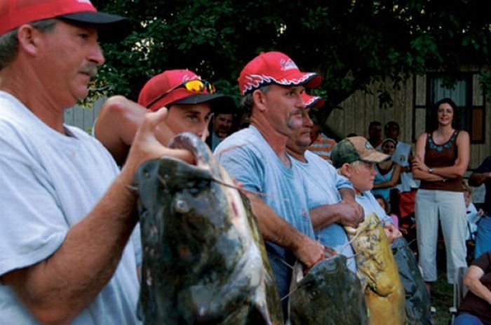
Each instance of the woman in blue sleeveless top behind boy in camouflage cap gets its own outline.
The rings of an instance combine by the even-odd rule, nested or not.
[[[392,159],[397,141],[392,138],[386,138],[380,146],[382,152],[389,155],[390,158],[375,165],[377,175],[375,175],[375,181],[373,182],[372,193],[373,195],[382,195],[384,200],[391,203],[391,190],[399,183],[401,176],[401,165]]]

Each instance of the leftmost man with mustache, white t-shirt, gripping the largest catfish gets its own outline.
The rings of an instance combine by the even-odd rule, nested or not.
[[[63,123],[105,61],[97,39],[129,29],[89,0],[1,1],[0,324],[139,323],[128,186],[146,160],[194,159],[154,137],[166,110],[145,116],[121,172]]]

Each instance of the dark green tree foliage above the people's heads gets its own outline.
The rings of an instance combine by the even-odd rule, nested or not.
[[[133,99],[149,76],[184,67],[238,98],[243,65],[266,50],[283,51],[302,69],[322,74],[318,93],[330,107],[375,81],[398,88],[413,73],[440,71],[452,84],[463,65],[490,64],[488,0],[93,3],[133,22],[127,39],[104,46],[107,64],[97,81],[98,88]],[[381,87],[381,103],[390,104],[391,89]]]

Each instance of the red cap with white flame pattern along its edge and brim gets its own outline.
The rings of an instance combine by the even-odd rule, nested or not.
[[[238,88],[242,95],[263,85],[305,85],[316,88],[322,77],[315,72],[302,72],[288,55],[281,52],[262,52],[245,65],[238,76]]]

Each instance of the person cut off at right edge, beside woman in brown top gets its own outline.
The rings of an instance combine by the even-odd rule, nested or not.
[[[483,204],[483,215],[478,222],[476,249],[474,256],[480,256],[491,250],[491,155],[476,168],[469,177],[470,186],[485,185],[486,194]]]

